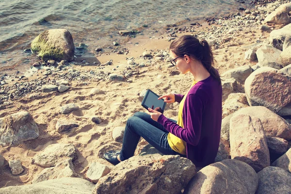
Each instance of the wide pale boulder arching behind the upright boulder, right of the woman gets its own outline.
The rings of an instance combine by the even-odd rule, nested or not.
[[[260,119],[263,125],[266,136],[280,137],[286,140],[291,139],[291,126],[289,123],[263,106],[253,106],[242,108],[236,113],[230,114],[222,119],[221,137],[227,140],[229,136],[229,123],[230,119],[236,114],[246,114],[251,117]]]

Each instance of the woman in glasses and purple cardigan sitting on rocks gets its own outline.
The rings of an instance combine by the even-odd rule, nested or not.
[[[218,151],[222,120],[222,85],[212,66],[213,55],[206,40],[183,35],[170,45],[170,54],[182,74],[192,73],[193,84],[185,95],[167,94],[166,103],[178,102],[178,121],[148,108],[127,121],[121,151],[104,158],[114,165],[133,156],[140,137],[166,155],[180,155],[196,166],[213,163]]]

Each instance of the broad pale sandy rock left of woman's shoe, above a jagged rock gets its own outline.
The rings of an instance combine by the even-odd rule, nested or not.
[[[75,146],[71,144],[51,144],[34,156],[33,163],[43,167],[51,167],[67,160],[73,161],[76,158],[77,150]]]

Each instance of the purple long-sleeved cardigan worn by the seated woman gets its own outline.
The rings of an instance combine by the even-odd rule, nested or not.
[[[184,96],[175,94],[175,101]],[[163,114],[158,122],[186,142],[187,158],[196,166],[213,163],[217,155],[222,120],[222,86],[212,76],[198,81],[188,92],[183,107],[183,125]]]

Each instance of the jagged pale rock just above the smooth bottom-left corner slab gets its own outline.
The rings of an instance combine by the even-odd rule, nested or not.
[[[32,184],[37,182],[42,182],[55,178],[64,178],[64,177],[75,177],[81,178],[75,170],[71,160],[66,160],[56,164],[56,166],[51,168],[45,168],[36,178],[32,180]]]

